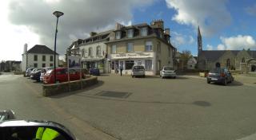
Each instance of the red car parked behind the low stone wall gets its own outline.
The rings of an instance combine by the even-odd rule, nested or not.
[[[80,72],[70,69],[70,80],[80,80]],[[67,68],[56,68],[56,83],[68,81]],[[43,84],[54,84],[54,69],[46,72]]]

